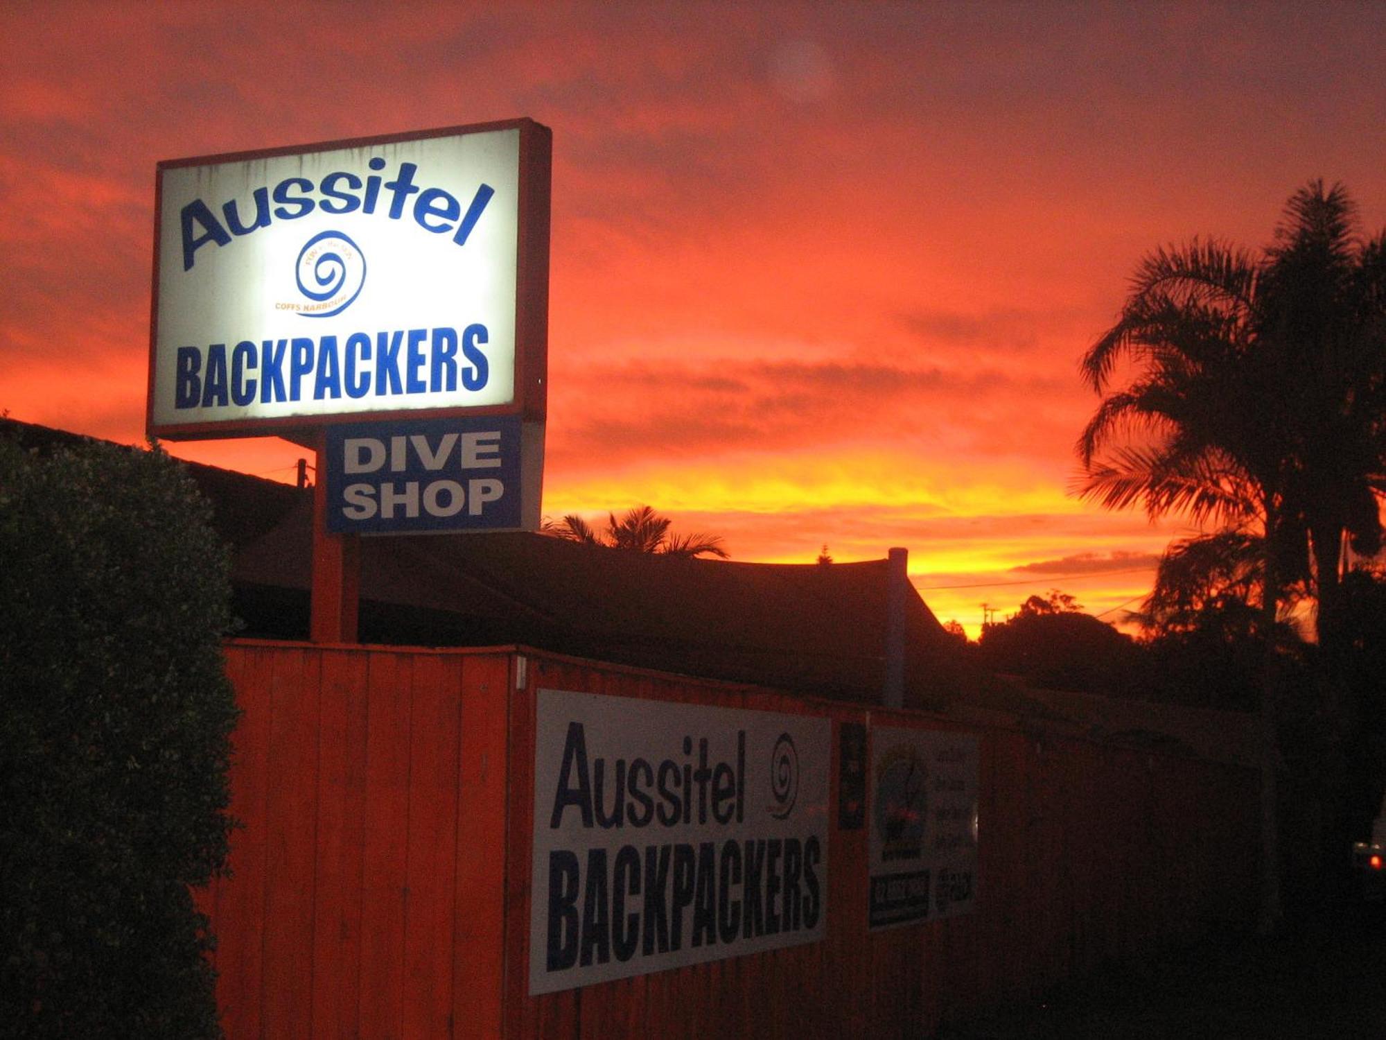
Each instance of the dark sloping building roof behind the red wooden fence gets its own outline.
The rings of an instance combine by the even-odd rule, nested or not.
[[[22,442],[78,438],[7,420]],[[308,635],[312,494],[187,463],[231,546],[243,635]],[[539,534],[363,538],[362,642],[520,643],[703,678],[879,703],[887,560],[773,564],[682,559]],[[913,587],[905,704],[956,692],[962,655]]]

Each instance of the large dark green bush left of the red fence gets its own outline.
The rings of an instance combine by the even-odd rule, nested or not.
[[[220,1036],[188,892],[231,826],[208,520],[161,451],[0,440],[0,1034]]]

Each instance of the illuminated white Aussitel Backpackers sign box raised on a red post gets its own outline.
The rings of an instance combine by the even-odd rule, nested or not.
[[[148,426],[543,419],[549,132],[161,162]]]

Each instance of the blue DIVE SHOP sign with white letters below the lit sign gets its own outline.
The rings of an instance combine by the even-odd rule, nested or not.
[[[525,527],[524,423],[475,416],[327,430],[327,530],[337,534]]]

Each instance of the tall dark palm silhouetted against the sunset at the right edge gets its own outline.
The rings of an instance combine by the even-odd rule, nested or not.
[[[1267,929],[1279,917],[1278,607],[1295,588],[1313,596],[1332,661],[1343,545],[1371,553],[1382,544],[1386,233],[1364,243],[1356,226],[1346,190],[1315,180],[1290,197],[1260,257],[1199,240],[1156,250],[1081,361],[1105,397],[1078,440],[1080,494],[1213,528],[1171,546],[1148,609],[1196,567],[1210,585],[1218,575],[1258,585]],[[1249,552],[1258,557],[1250,570]]]

